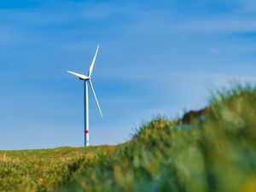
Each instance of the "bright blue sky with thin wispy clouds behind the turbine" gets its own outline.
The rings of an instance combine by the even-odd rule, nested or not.
[[[0,149],[123,143],[144,120],[203,108],[230,81],[256,82],[254,0],[0,3]]]

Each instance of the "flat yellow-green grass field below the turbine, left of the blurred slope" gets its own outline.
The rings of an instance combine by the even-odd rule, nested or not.
[[[72,177],[84,159],[111,148],[0,151],[0,191],[52,191]]]

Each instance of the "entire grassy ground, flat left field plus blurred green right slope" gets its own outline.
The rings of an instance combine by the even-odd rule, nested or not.
[[[0,191],[256,191],[256,89],[223,90],[204,121],[159,117],[118,146],[0,151]]]

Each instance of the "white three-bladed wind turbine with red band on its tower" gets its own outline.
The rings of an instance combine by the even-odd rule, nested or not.
[[[90,84],[90,88],[91,88],[92,93],[93,93],[93,95],[95,97],[95,100],[96,100],[97,106],[99,108],[99,111],[100,111],[100,113],[102,115],[102,109],[101,109],[100,104],[99,104],[99,102],[97,100],[95,90],[94,90],[92,82],[90,80],[90,76],[91,76],[91,73],[92,73],[95,61],[96,61],[96,56],[97,56],[97,53],[98,53],[98,49],[99,49],[99,45],[97,46],[96,53],[95,53],[94,58],[93,58],[93,60],[92,60],[92,62],[90,64],[89,73],[88,73],[87,76],[84,75],[84,74],[74,73],[74,72],[71,72],[71,71],[67,71],[68,73],[72,73],[73,75],[79,77],[80,80],[84,81],[84,146],[89,146],[89,97],[88,97],[88,84]],[[102,118],[103,118],[103,115],[102,115]]]

